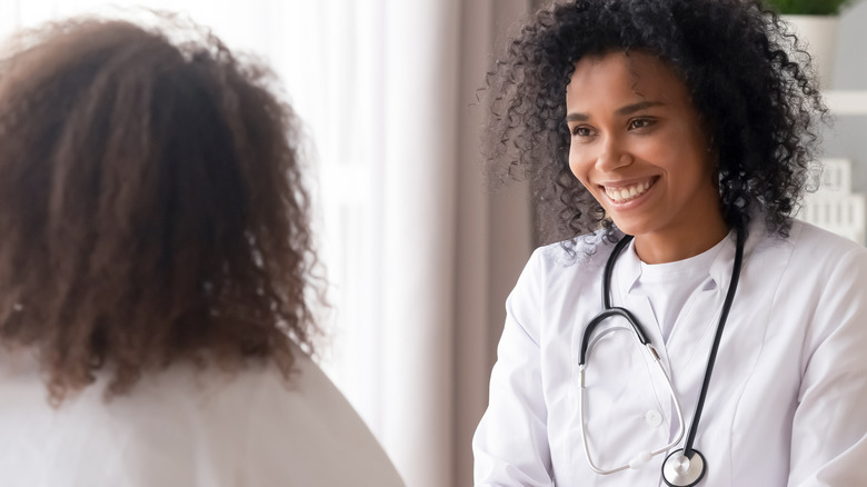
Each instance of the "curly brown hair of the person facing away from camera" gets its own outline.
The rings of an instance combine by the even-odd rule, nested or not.
[[[172,41],[171,39],[181,39]],[[179,360],[312,351],[322,284],[299,123],[207,30],[71,19],[0,61],[0,342],[60,404]]]

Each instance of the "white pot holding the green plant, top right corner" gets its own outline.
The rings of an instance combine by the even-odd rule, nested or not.
[[[838,16],[781,16],[807,46],[813,68],[818,74],[819,88],[830,89],[834,82],[834,62],[837,57]]]

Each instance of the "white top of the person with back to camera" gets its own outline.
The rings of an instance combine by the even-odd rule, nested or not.
[[[0,360],[3,487],[402,486],[365,424],[296,349],[232,376],[172,366],[104,402],[106,377],[51,408],[36,365]]]

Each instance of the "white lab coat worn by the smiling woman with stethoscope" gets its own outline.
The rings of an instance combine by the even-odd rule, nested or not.
[[[700,485],[865,486],[867,249],[798,221],[789,238],[768,236],[763,217],[750,225],[698,427],[695,447],[707,460]],[[665,485],[665,455],[608,476],[590,470],[585,458],[578,351],[584,327],[601,308],[612,245],[598,235],[581,245],[571,265],[558,245],[538,249],[507,301],[490,406],[474,438],[477,486]],[[694,298],[667,344],[658,327],[645,325],[687,427],[735,247],[727,238],[710,266],[715,286]],[[652,324],[647,299],[629,292],[639,269],[634,252],[618,259],[612,304]],[[670,397],[632,344],[631,334],[607,334],[588,358],[587,429],[602,468],[662,447],[676,433]]]

